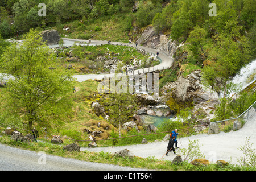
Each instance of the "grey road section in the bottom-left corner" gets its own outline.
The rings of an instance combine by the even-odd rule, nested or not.
[[[141,169],[83,162],[0,144],[0,171],[138,171]],[[44,164],[45,161],[45,164]]]

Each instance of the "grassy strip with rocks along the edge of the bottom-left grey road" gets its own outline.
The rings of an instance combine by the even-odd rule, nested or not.
[[[255,170],[253,167],[241,167],[229,164],[225,167],[219,167],[216,164],[210,164],[209,166],[193,166],[187,161],[176,165],[172,164],[171,160],[159,160],[154,157],[140,158],[135,156],[134,158],[122,158],[109,152],[68,152],[62,149],[63,145],[51,144],[48,142],[14,142],[9,136],[3,135],[0,137],[0,143],[7,144],[12,147],[18,147],[31,151],[44,151],[46,154],[61,156],[65,158],[72,158],[87,162],[97,162],[114,164],[119,166],[129,166],[132,168],[142,168],[148,170],[160,170],[160,171],[249,171]]]

